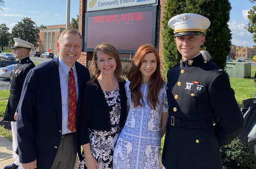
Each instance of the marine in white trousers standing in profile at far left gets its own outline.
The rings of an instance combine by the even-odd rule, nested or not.
[[[17,128],[15,113],[18,113],[19,100],[23,83],[28,72],[35,67],[35,64],[29,58],[29,51],[33,47],[33,44],[23,41],[20,38],[14,38],[15,45],[12,47],[15,51],[15,58],[19,59],[10,77],[10,95],[5,110],[4,121],[11,121],[11,132],[13,134],[13,157],[16,160],[13,164],[7,165],[4,169],[18,168],[19,157],[15,153],[17,148]]]

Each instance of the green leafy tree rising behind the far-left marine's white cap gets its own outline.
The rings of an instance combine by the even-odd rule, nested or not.
[[[22,21],[18,22],[11,31],[9,46],[14,45],[13,38],[21,38],[22,40],[28,41],[38,47],[39,42],[39,28],[31,18],[23,18]]]

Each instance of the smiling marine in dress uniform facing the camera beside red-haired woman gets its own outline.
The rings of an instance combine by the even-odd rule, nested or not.
[[[167,73],[169,118],[163,166],[221,169],[220,147],[238,136],[243,118],[226,73],[200,54],[202,34],[210,21],[197,14],[181,14],[168,25],[175,30],[182,60]]]

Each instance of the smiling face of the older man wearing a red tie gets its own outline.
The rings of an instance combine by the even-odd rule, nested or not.
[[[66,33],[63,35],[61,42],[57,42],[59,57],[70,68],[77,61],[82,52],[82,42],[78,34]]]

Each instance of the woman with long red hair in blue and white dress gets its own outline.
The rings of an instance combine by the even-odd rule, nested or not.
[[[154,46],[142,45],[137,50],[128,80],[125,90],[129,113],[114,151],[113,168],[159,168],[168,102]]]

